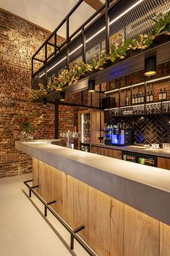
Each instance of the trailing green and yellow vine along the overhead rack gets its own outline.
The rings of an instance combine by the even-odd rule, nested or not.
[[[69,70],[64,69],[58,78],[54,77],[52,82],[48,83],[45,88],[41,83],[38,84],[38,90],[32,90],[31,99],[35,100],[41,96],[46,96],[51,91],[62,91],[64,86],[76,83],[83,75],[86,75],[93,70],[103,70],[108,62],[115,62],[116,59],[124,59],[127,56],[127,51],[136,49],[146,49],[153,40],[162,34],[170,35],[170,11],[165,14],[158,14],[155,27],[152,32],[147,35],[139,35],[135,39],[126,39],[121,33],[116,33],[110,38],[110,50],[109,54],[106,54],[104,50],[101,51],[101,56],[93,56],[93,61],[88,63],[82,62],[82,60],[76,60],[69,66]]]

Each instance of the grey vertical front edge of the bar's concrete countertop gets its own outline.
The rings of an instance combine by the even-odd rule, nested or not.
[[[54,157],[51,152],[20,141],[16,141],[16,148],[170,226],[169,191],[132,181],[57,154]]]

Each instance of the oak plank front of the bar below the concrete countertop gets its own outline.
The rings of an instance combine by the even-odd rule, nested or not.
[[[33,185],[99,256],[170,256],[170,226],[35,158]]]

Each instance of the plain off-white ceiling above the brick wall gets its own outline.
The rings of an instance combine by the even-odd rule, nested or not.
[[[0,7],[18,15],[25,20],[46,28],[51,32],[64,19],[78,0],[0,0]],[[105,1],[105,0],[102,0]],[[82,2],[75,14],[70,18],[69,34],[88,19],[95,10]],[[66,26],[59,30],[59,35],[66,38]]]

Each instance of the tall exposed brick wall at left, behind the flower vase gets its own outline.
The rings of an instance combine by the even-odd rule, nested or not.
[[[21,128],[16,117],[43,115],[35,138],[54,138],[54,106],[30,102],[31,57],[49,36],[46,30],[0,9],[0,178],[31,171],[31,158],[14,148]],[[58,41],[62,38],[58,38]]]

